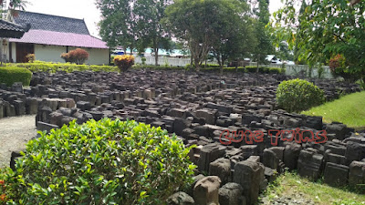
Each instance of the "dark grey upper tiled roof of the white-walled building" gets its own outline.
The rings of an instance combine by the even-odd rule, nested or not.
[[[18,25],[30,24],[35,30],[89,35],[88,27],[83,19],[17,11],[14,20]]]

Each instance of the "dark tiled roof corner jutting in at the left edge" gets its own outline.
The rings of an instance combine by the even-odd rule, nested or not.
[[[0,19],[0,37],[20,38],[29,30],[29,26],[20,26]]]

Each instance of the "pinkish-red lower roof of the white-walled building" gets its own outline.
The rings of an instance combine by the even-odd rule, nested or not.
[[[46,30],[29,30],[22,38],[10,38],[9,41],[54,46],[109,48],[107,43],[94,36]]]

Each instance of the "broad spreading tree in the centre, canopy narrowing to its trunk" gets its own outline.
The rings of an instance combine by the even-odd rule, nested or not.
[[[172,34],[187,42],[199,71],[212,46],[219,41],[227,16],[235,13],[237,0],[175,0],[166,8],[163,22]]]

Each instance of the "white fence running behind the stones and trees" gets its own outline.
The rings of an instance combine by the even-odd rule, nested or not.
[[[145,56],[146,65],[155,65],[154,56]],[[136,63],[141,64],[141,56],[136,56]],[[171,56],[160,56],[158,60],[160,66],[172,66],[172,67],[185,67],[190,65],[190,57],[171,57]],[[209,64],[217,64],[216,62],[209,62]],[[255,62],[250,62],[249,66],[257,66]],[[260,65],[260,67],[285,67],[287,76],[297,76],[297,77],[321,77],[321,78],[334,78],[329,70],[329,67],[313,67],[312,69],[307,65]]]

